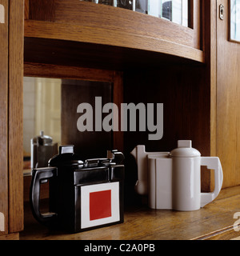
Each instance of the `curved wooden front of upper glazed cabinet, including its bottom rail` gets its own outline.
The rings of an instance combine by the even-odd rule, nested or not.
[[[91,2],[55,0],[45,5],[38,5],[39,1],[29,2],[25,37],[150,50],[204,62],[198,0],[194,0],[193,28]]]

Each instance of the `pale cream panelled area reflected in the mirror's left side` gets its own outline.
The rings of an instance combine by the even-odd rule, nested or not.
[[[33,145],[31,139],[41,137],[50,144],[61,143],[61,79],[30,78],[23,79],[23,150],[24,169],[36,167],[33,158],[30,162]],[[55,147],[56,148],[56,147]],[[49,153],[49,148],[47,149]],[[53,152],[53,154],[55,151]],[[34,166],[33,166],[34,165]],[[38,166],[40,167],[40,166]]]

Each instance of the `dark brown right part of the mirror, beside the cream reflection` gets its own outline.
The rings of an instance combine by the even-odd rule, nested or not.
[[[62,80],[62,144],[74,145],[74,152],[82,159],[104,158],[106,150],[111,148],[111,132],[96,131],[95,114],[99,118],[99,111],[95,106],[95,97],[102,97],[102,106],[111,102],[112,86],[110,82],[90,82],[81,80]],[[77,113],[80,103],[89,103],[92,106],[93,131],[79,131],[77,127],[78,118],[82,114]],[[98,110],[98,113],[97,113]],[[84,112],[86,114],[86,112]],[[101,122],[106,114],[102,113]]]

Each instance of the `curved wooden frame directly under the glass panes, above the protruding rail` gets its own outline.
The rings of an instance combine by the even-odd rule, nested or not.
[[[162,38],[199,49],[200,38],[194,36],[194,30],[200,34],[200,12],[198,11],[200,10],[200,1],[193,0],[193,2],[194,6],[191,6],[192,10],[190,10],[194,17],[193,28],[179,26],[165,19],[131,10],[74,0],[30,0],[29,19],[52,21],[58,24],[59,22],[78,24],[91,28],[92,32],[98,28],[106,30],[106,33],[119,30],[150,38]],[[178,36],[176,37],[176,35]],[[108,37],[106,35],[102,38],[107,40]]]

